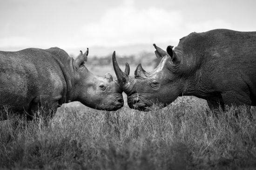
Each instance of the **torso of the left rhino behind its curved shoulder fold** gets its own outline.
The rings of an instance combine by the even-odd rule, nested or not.
[[[59,63],[47,50],[0,51],[0,105],[20,111],[40,98],[53,102],[65,83]]]

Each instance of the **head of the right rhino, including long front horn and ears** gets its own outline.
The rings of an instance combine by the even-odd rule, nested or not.
[[[119,85],[128,96],[128,106],[142,111],[149,111],[153,105],[166,107],[182,94],[181,57],[178,51],[167,47],[167,52],[155,44],[155,55],[161,57],[159,65],[151,72],[146,72],[141,64],[135,70],[135,78],[123,73],[113,54],[113,66]],[[177,53],[177,54],[176,54]]]

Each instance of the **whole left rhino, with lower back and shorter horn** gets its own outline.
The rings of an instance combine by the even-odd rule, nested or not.
[[[122,90],[108,73],[94,76],[84,65],[88,50],[74,60],[57,47],[0,51],[0,108],[32,113],[46,107],[50,116],[69,101],[100,110],[123,106]]]

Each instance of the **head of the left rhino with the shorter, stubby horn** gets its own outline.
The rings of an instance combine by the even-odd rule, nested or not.
[[[104,77],[95,76],[84,65],[87,61],[88,50],[73,62],[74,80],[73,96],[85,106],[98,110],[113,111],[123,106],[122,89],[107,73]]]

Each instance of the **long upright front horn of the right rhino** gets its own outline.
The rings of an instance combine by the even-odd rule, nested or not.
[[[118,66],[118,63],[115,58],[115,51],[112,56],[112,61],[113,61],[115,74],[118,80],[118,84],[120,85],[120,87],[125,93],[129,93],[136,82],[135,78],[130,77],[128,74],[130,72],[129,64],[128,63],[126,64],[126,73],[124,73]]]

